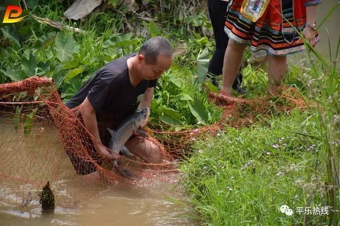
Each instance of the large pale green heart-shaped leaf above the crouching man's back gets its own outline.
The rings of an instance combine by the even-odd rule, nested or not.
[[[72,59],[73,53],[79,52],[79,44],[73,39],[72,35],[68,35],[66,40],[64,40],[61,33],[57,32],[54,45],[57,58],[60,62]]]

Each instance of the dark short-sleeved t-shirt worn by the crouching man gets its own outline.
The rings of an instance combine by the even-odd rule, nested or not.
[[[116,59],[94,73],[78,93],[65,105],[75,108],[87,97],[96,113],[116,113],[128,116],[138,107],[137,97],[154,87],[156,80],[142,80],[133,87],[129,78],[127,59],[136,53]]]

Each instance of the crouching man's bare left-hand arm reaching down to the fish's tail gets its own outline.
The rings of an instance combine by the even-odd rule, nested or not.
[[[118,156],[110,155],[106,150],[106,147],[102,145],[101,138],[99,136],[96,111],[93,109],[90,101],[85,98],[83,103],[80,105],[80,113],[82,114],[85,128],[92,134],[94,137],[93,144],[97,151],[97,153],[104,159],[111,160],[117,159]]]

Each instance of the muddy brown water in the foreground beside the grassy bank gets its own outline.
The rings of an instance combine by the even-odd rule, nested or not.
[[[197,225],[188,217],[193,210],[187,207],[178,174],[162,173],[142,178],[137,185],[105,187],[76,175],[63,150],[48,123],[36,123],[24,136],[22,125],[16,132],[13,118],[0,117],[0,226]],[[36,195],[46,180],[52,181],[57,200],[50,214],[42,214]],[[33,201],[20,208],[29,191]]]

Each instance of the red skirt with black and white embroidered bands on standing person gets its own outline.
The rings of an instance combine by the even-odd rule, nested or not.
[[[321,0],[313,2],[318,4]],[[306,0],[270,0],[256,22],[240,13],[242,3],[243,0],[229,3],[224,31],[230,39],[250,45],[253,52],[264,49],[270,55],[287,55],[305,50],[304,42],[295,29],[302,33],[305,28]],[[317,32],[315,38],[319,41]]]

